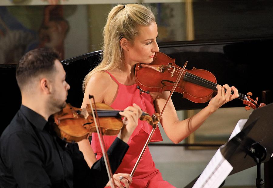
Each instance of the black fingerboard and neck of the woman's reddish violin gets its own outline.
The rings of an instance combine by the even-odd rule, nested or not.
[[[212,89],[213,91],[217,91],[217,87],[216,87],[217,83],[214,83],[214,82],[212,82],[210,80],[206,80],[206,79],[204,79],[202,77],[199,77],[197,75],[194,75],[192,73],[186,72],[183,79],[188,81],[188,82],[191,82],[191,83],[194,83],[194,84],[197,84],[197,85]],[[225,89],[225,91],[227,91],[227,90]],[[234,91],[231,91],[231,94],[234,94]],[[244,101],[248,97],[245,96],[244,94],[239,93],[238,98]]]

